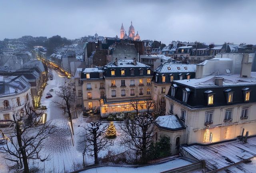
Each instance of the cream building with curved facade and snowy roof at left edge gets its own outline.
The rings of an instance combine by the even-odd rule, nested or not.
[[[11,125],[13,114],[25,112],[25,106],[32,105],[30,84],[20,76],[0,76],[0,128]]]

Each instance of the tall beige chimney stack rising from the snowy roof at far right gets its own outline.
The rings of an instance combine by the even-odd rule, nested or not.
[[[252,57],[249,57],[249,54],[244,54],[242,59],[240,77],[251,77],[251,71]]]

